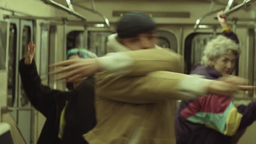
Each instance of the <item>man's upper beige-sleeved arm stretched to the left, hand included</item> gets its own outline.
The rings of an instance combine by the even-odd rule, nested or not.
[[[149,49],[130,52],[110,53],[105,57],[94,59],[72,59],[51,65],[67,66],[51,74],[67,72],[58,78],[75,82],[101,71],[121,76],[144,76],[157,70],[183,73],[183,58],[167,49]]]

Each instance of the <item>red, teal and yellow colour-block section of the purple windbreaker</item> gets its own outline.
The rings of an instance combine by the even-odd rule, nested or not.
[[[242,114],[230,97],[208,95],[191,101],[180,115],[189,122],[200,123],[224,135],[234,135],[239,127]]]

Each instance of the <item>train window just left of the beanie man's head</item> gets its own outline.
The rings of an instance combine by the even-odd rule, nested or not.
[[[107,53],[108,36],[113,32],[88,32],[88,50],[101,57]]]

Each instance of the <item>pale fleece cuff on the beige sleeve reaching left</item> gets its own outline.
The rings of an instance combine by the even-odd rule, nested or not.
[[[109,56],[97,58],[102,71],[108,71],[116,75],[130,73],[133,64],[132,58],[125,53],[112,53]]]

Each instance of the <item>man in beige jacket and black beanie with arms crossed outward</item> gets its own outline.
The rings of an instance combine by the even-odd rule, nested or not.
[[[102,71],[96,76],[97,125],[84,134],[90,144],[176,143],[176,100],[207,93],[232,95],[239,89],[231,83],[181,74],[182,57],[155,45],[155,28],[146,14],[126,14],[118,23],[118,34],[108,38],[107,50],[114,53],[53,64],[69,65],[53,72],[68,71],[59,78],[67,81]]]

